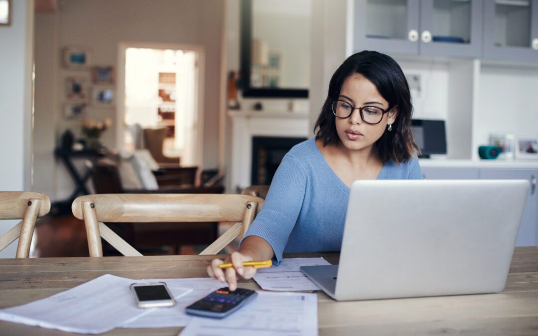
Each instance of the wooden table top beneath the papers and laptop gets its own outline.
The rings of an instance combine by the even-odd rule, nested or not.
[[[324,256],[336,253],[293,254]],[[103,274],[137,278],[206,276],[213,256],[0,259],[0,308],[28,303]],[[259,289],[252,280],[240,287]],[[518,247],[500,294],[336,302],[318,294],[320,335],[538,335],[538,246]],[[181,328],[123,329],[111,335],[177,335]],[[0,321],[2,335],[64,334]]]

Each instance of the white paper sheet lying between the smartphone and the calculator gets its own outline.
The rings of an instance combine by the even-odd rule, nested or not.
[[[205,297],[210,292],[219,288],[228,286],[227,283],[220,282],[214,278],[184,278],[184,279],[160,279],[152,280],[164,281],[168,285],[172,295],[175,297],[175,288],[192,288],[188,294],[176,298],[178,302],[172,308],[166,310],[152,311],[144,314],[137,319],[129,321],[122,325],[124,328],[164,328],[164,327],[183,327],[189,323],[190,317],[185,313],[185,308]]]

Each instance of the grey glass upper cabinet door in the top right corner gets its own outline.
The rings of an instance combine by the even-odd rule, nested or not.
[[[538,0],[484,2],[483,57],[538,61]]]

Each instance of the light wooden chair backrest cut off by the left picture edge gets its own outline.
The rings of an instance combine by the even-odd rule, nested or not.
[[[22,219],[0,236],[0,251],[19,238],[15,258],[28,258],[36,220],[51,210],[51,199],[40,192],[0,191],[0,219]]]

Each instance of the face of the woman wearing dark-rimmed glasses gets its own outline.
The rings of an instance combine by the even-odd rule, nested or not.
[[[338,99],[353,106],[369,105],[383,110],[388,109],[388,102],[379,94],[376,85],[361,74],[353,74],[346,78]],[[354,109],[348,118],[335,117],[336,132],[345,148],[353,151],[368,150],[381,138],[383,132],[388,132],[387,124],[393,124],[396,115],[397,109],[393,108],[383,115],[379,124],[371,125],[364,122],[358,109]]]

